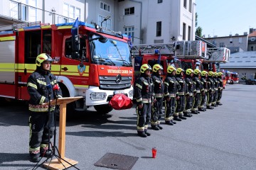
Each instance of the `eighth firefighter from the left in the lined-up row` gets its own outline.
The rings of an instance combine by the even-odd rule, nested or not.
[[[213,109],[211,106],[212,101],[213,101],[213,90],[214,90],[214,81],[213,81],[213,72],[210,71],[208,72],[208,78],[207,78],[207,84],[208,84],[208,89],[207,89],[207,103],[206,103],[206,108],[208,109]]]

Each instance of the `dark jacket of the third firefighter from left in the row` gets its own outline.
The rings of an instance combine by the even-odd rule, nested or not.
[[[175,98],[178,96],[178,89],[180,89],[178,81],[174,76],[167,75],[164,79],[164,98]]]

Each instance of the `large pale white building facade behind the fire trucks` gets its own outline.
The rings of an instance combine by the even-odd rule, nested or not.
[[[76,18],[132,37],[134,44],[195,40],[195,0],[2,0],[0,26]]]

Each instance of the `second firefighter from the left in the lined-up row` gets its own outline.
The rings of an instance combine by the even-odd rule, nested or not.
[[[163,67],[161,64],[154,64],[153,74],[151,74],[151,79],[154,83],[154,103],[152,103],[151,111],[151,129],[161,130],[160,126],[161,115],[163,114],[163,97],[164,97],[164,84],[161,79]]]

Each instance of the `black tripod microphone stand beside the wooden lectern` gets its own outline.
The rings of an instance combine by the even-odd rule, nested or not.
[[[48,150],[47,150],[44,154],[50,153],[50,156],[48,156],[45,161],[43,161],[41,164],[38,165],[38,163],[41,161],[41,159],[42,159],[43,156],[44,156],[44,154],[43,154],[42,157],[41,157],[41,159],[40,159],[40,161],[39,161],[38,163],[36,163],[36,165],[33,167],[33,169],[37,169],[37,168],[38,168],[39,166],[41,166],[42,164],[46,163],[46,162],[48,161],[48,159],[50,159],[50,162],[51,162],[52,159],[53,159],[53,156],[55,156],[55,157],[58,159],[58,161],[60,162],[60,164],[62,164],[65,169],[67,169],[67,167],[65,167],[65,165],[63,164],[63,162],[61,162],[60,160],[63,160],[64,162],[66,162],[67,164],[69,164],[70,167],[74,167],[75,169],[78,169],[75,165],[70,164],[70,163],[67,162],[65,159],[61,158],[61,157],[60,157],[60,152],[58,151],[58,148],[56,147],[56,111],[57,111],[57,106],[58,106],[58,105],[57,105],[57,101],[58,101],[58,92],[57,92],[57,90],[55,90],[55,94],[54,94],[56,101],[55,101],[55,112],[53,113],[53,114],[54,114],[53,145],[52,145],[51,142],[50,142],[50,122],[51,122],[51,117],[50,117],[50,114],[51,114],[51,113],[50,113],[50,96],[51,96],[51,94],[52,94],[52,88],[51,88],[51,86],[50,86],[50,88],[48,88],[48,86],[47,86],[47,89],[48,89],[48,100],[49,100],[49,102],[48,102],[48,134],[49,134],[49,135],[48,135]],[[50,149],[50,145],[51,145],[51,147],[52,147],[53,150]],[[55,154],[55,149],[57,150],[58,155]],[[50,162],[49,162],[48,165],[50,165]],[[70,168],[70,167],[68,167],[68,168]],[[33,170],[33,169],[32,169],[32,170]],[[80,169],[78,169],[78,170],[80,170]]]

